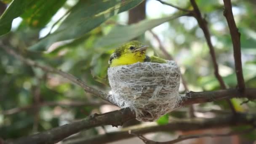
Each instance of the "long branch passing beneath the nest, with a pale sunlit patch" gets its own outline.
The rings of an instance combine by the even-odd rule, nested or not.
[[[252,118],[251,120],[246,119],[246,114],[242,113],[238,113],[236,119],[234,118],[234,115],[231,115],[230,113],[213,118],[192,118],[189,120],[172,119],[166,125],[157,125],[156,123],[133,125],[123,128],[121,131],[110,132],[90,138],[80,136],[79,138],[76,137],[75,139],[67,139],[64,140],[64,144],[105,144],[134,137],[134,135],[128,134],[129,131],[141,135],[153,132],[196,131],[209,128],[251,125],[255,120],[256,117]]]

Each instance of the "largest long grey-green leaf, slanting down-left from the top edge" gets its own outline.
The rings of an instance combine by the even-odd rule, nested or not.
[[[32,45],[29,49],[42,51],[57,41],[81,37],[111,16],[127,11],[142,1],[80,0],[55,32]]]

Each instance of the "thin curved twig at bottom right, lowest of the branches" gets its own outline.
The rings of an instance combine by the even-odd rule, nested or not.
[[[245,131],[230,131],[230,132],[224,133],[224,134],[206,133],[206,134],[197,134],[197,135],[184,135],[184,136],[179,136],[177,139],[174,139],[174,140],[171,140],[171,141],[165,141],[165,142],[152,141],[152,140],[149,140],[149,139],[145,138],[141,134],[132,133],[131,131],[130,131],[130,133],[135,135],[135,136],[138,136],[139,139],[141,139],[145,144],[175,144],[177,142],[184,141],[184,140],[187,140],[187,139],[198,139],[198,138],[203,138],[203,137],[224,137],[224,136],[240,135],[240,134],[245,134],[245,133],[248,133],[248,132],[252,132],[254,129],[255,128],[249,128]]]

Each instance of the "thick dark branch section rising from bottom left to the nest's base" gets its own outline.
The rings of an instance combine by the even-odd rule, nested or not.
[[[6,144],[53,144],[79,131],[100,125],[123,125],[124,122],[135,118],[130,109],[121,109],[99,115],[95,114],[83,120],[67,125],[62,125],[48,131],[23,137],[14,141],[6,141]]]

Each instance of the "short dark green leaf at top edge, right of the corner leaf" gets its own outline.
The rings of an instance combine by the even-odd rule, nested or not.
[[[34,0],[21,17],[30,27],[43,27],[65,2],[66,0]]]

